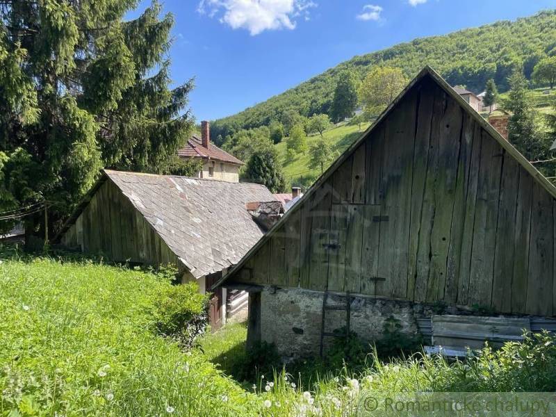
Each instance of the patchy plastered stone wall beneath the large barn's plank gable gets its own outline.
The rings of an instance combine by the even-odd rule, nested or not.
[[[272,288],[261,292],[261,340],[275,343],[284,359],[318,354],[324,293],[301,288]],[[329,293],[328,305],[345,304],[345,297]],[[363,341],[382,336],[384,321],[393,316],[401,331],[418,333],[416,318],[431,316],[430,307],[411,302],[357,296],[351,302],[350,329]],[[345,310],[327,310],[325,331],[345,327]],[[325,337],[325,352],[332,337]]]

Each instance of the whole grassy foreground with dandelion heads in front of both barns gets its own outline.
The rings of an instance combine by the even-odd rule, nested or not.
[[[154,304],[170,285],[91,261],[2,259],[0,416],[352,416],[370,393],[556,389],[548,335],[465,362],[370,353],[359,368],[325,372],[307,359],[263,372],[268,352],[245,352],[243,323],[193,350],[153,332]]]

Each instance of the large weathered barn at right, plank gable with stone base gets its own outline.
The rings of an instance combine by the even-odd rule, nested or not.
[[[532,328],[556,313],[555,197],[426,67],[217,285],[250,291],[250,343],[293,357],[439,311]]]

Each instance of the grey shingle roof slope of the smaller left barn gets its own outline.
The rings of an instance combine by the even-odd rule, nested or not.
[[[237,263],[263,236],[247,202],[275,200],[253,183],[104,172],[195,278]]]

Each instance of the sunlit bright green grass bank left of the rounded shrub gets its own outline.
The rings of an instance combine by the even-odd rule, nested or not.
[[[258,404],[250,393],[150,330],[147,312],[167,286],[155,275],[104,265],[3,262],[0,415],[252,411]]]

